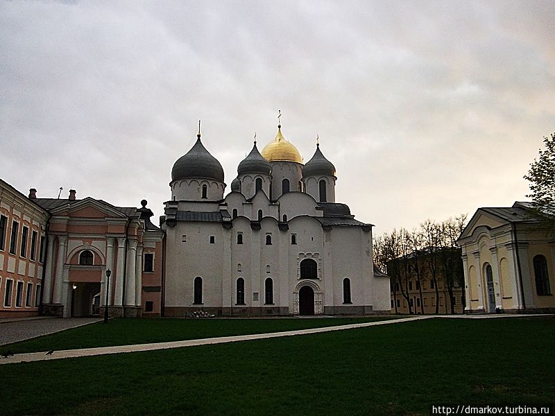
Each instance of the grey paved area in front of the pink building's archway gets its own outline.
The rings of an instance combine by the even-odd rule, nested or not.
[[[0,345],[17,343],[49,333],[80,327],[98,322],[99,318],[42,318],[2,320],[0,322]]]

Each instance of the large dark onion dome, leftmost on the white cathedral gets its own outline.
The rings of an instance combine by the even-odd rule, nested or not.
[[[223,168],[220,162],[205,149],[200,137],[196,139],[191,150],[182,155],[171,169],[172,181],[188,177],[206,177],[223,182]]]

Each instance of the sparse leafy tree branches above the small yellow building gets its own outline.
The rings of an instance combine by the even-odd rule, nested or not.
[[[543,143],[545,148],[539,150],[524,179],[530,182],[527,197],[532,199],[534,214],[555,234],[555,132]]]

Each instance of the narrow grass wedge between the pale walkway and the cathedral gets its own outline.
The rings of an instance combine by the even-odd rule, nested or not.
[[[359,322],[373,322],[399,318],[394,316],[366,318],[318,319],[112,319],[108,324],[96,322],[75,329],[68,329],[20,343],[0,347],[2,352],[48,351],[49,349],[77,349],[165,343],[168,341],[194,340],[219,336],[246,335],[251,333],[293,331],[295,329],[331,327]]]

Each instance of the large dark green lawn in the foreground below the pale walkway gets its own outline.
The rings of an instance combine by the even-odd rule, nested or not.
[[[432,404],[552,404],[554,324],[431,319],[0,365],[0,413],[413,416]]]

